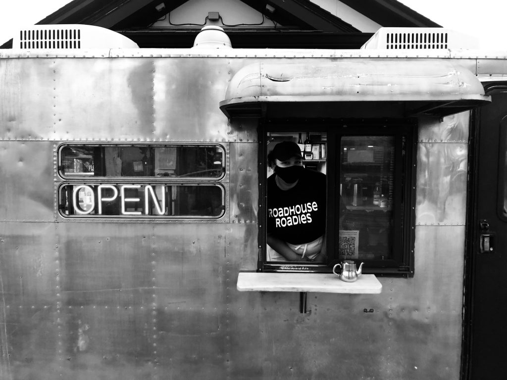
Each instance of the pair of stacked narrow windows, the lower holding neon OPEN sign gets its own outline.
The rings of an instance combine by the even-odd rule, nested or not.
[[[218,144],[64,144],[60,214],[71,218],[217,219],[226,210]]]

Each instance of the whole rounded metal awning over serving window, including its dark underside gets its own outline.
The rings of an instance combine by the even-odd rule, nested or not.
[[[220,108],[229,118],[443,117],[490,101],[475,74],[451,60],[315,60],[243,67]]]

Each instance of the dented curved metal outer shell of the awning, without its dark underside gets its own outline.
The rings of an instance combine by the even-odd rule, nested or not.
[[[415,102],[436,108],[453,103],[462,109],[491,101],[470,72],[458,61],[333,60],[314,64],[258,62],[239,70],[220,108],[242,103],[283,102]],[[446,105],[447,106],[447,105]]]

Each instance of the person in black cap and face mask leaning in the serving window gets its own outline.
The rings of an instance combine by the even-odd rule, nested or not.
[[[268,164],[274,174],[267,181],[267,260],[324,262],[325,174],[304,168],[291,141],[276,144]]]

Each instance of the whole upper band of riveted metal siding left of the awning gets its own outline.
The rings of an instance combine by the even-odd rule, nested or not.
[[[3,104],[18,106],[2,112],[6,140],[251,141],[257,137],[255,125],[232,128],[219,111],[234,72],[227,59],[200,58],[184,65],[178,59],[140,57],[2,62],[15,71],[4,81],[18,78],[20,82],[5,82],[9,91],[2,95]],[[37,92],[30,90],[35,87]],[[23,112],[21,104],[31,112]]]

